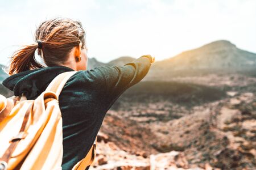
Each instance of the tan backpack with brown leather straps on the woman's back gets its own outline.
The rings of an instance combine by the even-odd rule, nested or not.
[[[57,75],[35,100],[0,95],[0,170],[62,169],[63,129],[59,95],[77,71]],[[96,156],[97,137],[72,170],[85,169]]]

